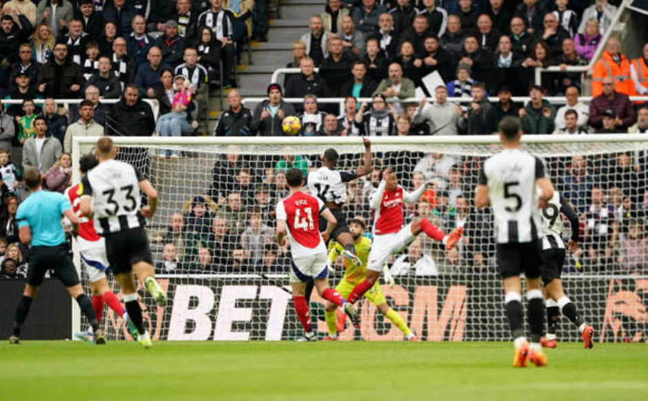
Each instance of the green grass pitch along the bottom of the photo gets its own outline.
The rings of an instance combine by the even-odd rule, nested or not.
[[[640,400],[648,347],[559,343],[514,369],[510,342],[23,342],[0,400]]]

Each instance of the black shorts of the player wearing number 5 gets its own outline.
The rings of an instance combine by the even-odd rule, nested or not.
[[[540,277],[540,260],[542,260],[543,243],[538,240],[532,243],[497,244],[497,270],[502,278],[520,276],[527,278]]]

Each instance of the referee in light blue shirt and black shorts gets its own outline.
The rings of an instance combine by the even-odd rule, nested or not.
[[[20,343],[20,329],[27,318],[32,300],[38,287],[43,284],[43,278],[48,269],[54,269],[54,274],[63,282],[72,298],[79,303],[81,311],[94,331],[94,341],[105,344],[103,330],[99,329],[97,315],[92,309],[92,303],[79,283],[77,269],[65,246],[65,232],[61,224],[61,216],[70,220],[74,229],[79,227],[79,218],[72,212],[70,200],[58,192],[48,192],[41,189],[41,173],[36,167],[27,167],[23,180],[30,196],[20,204],[16,214],[21,243],[32,245],[27,283],[25,291],[16,310],[16,319],[10,344]]]

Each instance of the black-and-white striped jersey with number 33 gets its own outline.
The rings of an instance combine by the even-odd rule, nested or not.
[[[139,182],[144,178],[132,165],[108,160],[94,167],[83,178],[83,197],[92,197],[94,229],[105,236],[136,227],[144,227],[140,212]]]

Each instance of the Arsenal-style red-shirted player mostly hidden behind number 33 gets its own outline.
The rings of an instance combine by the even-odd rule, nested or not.
[[[90,169],[94,168],[97,163],[99,163],[97,158],[91,154],[81,156],[81,159],[79,159],[79,171],[81,174],[85,174],[90,171]],[[108,307],[117,313],[117,316],[123,318],[128,324],[130,335],[133,338],[137,338],[137,329],[128,318],[128,313],[126,313],[125,308],[121,305],[117,296],[115,296],[115,294],[110,291],[110,287],[108,287],[108,280],[105,277],[105,271],[108,270],[108,257],[105,254],[105,242],[103,238],[97,234],[97,231],[95,231],[92,220],[81,214],[79,205],[81,204],[82,192],[83,186],[79,183],[65,189],[65,196],[70,199],[72,212],[79,217],[77,243],[79,244],[81,260],[83,260],[83,263],[87,267],[90,291],[92,291],[92,307],[94,307],[94,313],[97,313],[97,320],[101,322],[103,304],[108,304]],[[75,333],[75,336],[82,340],[94,342],[92,328],[81,333]]]

